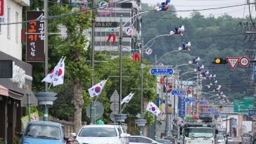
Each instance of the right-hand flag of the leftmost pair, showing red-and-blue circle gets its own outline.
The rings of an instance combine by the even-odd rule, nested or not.
[[[65,58],[61,61],[58,70],[56,71],[56,76],[53,79],[53,86],[64,83],[64,72],[65,72]]]

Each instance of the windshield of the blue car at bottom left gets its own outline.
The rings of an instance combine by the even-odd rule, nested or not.
[[[29,124],[25,131],[25,136],[33,138],[60,139],[60,129],[58,126],[46,124]]]

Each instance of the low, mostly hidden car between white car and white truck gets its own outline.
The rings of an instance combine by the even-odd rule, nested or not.
[[[148,143],[162,144],[146,136],[130,136],[129,137],[129,144],[148,144]]]

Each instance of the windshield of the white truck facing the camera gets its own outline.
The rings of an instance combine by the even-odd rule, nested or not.
[[[190,138],[212,138],[214,133],[212,127],[189,126],[185,129],[185,136]]]

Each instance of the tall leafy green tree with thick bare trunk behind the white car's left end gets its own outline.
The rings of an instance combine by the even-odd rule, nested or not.
[[[78,11],[78,10],[77,10]],[[87,37],[84,35],[84,30],[91,27],[92,14],[91,12],[77,12],[71,13],[68,6],[51,6],[51,13],[55,15],[65,15],[62,18],[53,20],[50,23],[50,30],[58,31],[58,27],[63,25],[66,28],[67,37],[60,38],[51,37],[51,52],[54,51],[56,57],[65,55],[65,81],[72,86],[72,105],[75,107],[74,122],[75,131],[78,131],[82,126],[82,108],[84,106],[84,97],[89,99],[84,88],[87,88],[90,83],[91,70],[86,62],[87,51]]]

